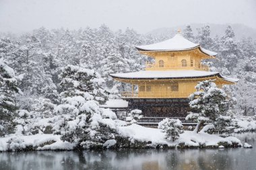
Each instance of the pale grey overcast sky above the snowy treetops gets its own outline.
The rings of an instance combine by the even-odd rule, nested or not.
[[[0,32],[46,28],[156,28],[192,23],[256,28],[255,0],[0,0]]]

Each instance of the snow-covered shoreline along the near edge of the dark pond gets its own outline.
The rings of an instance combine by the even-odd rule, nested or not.
[[[137,124],[119,127],[121,137],[106,140],[103,145],[90,149],[115,148],[236,148],[243,145],[238,138],[223,138],[216,134],[185,131],[174,142],[166,140],[160,129],[146,128]],[[77,144],[63,142],[60,135],[34,134],[18,136],[15,134],[0,138],[0,151],[67,151],[80,150]]]

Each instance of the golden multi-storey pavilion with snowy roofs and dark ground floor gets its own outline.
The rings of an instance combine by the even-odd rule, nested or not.
[[[214,59],[217,53],[183,38],[180,32],[169,40],[136,48],[154,62],[146,62],[145,71],[110,76],[131,84],[123,99],[129,101],[129,108],[142,110],[144,116],[185,117],[188,97],[199,81],[214,79],[218,87],[238,81],[211,72],[201,60]]]

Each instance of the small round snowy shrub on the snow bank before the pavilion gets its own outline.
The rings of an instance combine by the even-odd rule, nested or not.
[[[183,133],[183,125],[179,119],[165,118],[158,123],[158,129],[162,129],[165,138],[168,140],[177,140],[181,133]]]

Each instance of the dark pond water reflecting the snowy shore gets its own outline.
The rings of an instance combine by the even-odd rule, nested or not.
[[[256,169],[256,133],[234,136],[253,148],[6,152],[0,169]]]

